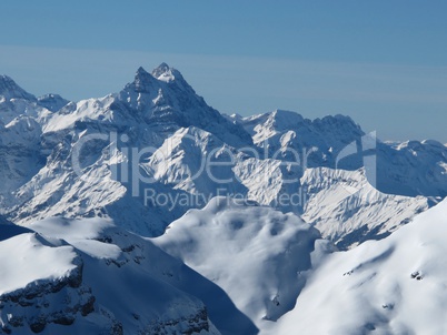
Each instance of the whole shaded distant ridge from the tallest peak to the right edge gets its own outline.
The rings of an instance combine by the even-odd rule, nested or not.
[[[242,125],[267,155],[280,153],[276,156],[295,161],[295,153],[301,154],[305,150],[307,168],[342,170],[357,170],[364,166],[364,155],[374,155],[377,161],[375,186],[379,191],[410,196],[446,196],[447,149],[437,141],[386,143],[377,140],[365,149],[361,144],[368,134],[344,115],[309,120],[277,110],[255,116],[234,114],[227,118]],[[352,151],[344,156],[342,151],[350,144],[354,144]],[[311,148],[316,150],[310,152]]]

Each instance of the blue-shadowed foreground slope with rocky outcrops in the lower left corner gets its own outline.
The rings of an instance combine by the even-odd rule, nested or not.
[[[49,219],[31,229],[39,233],[0,242],[8,334],[257,332],[224,291],[110,221]]]

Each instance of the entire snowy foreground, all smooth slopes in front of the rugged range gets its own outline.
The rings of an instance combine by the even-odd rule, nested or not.
[[[152,240],[103,219],[0,225],[4,334],[447,331],[446,202],[346,252],[291,213],[226,199]]]

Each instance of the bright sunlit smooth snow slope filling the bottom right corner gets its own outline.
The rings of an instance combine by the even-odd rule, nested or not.
[[[326,257],[266,334],[447,333],[447,202],[381,241]]]

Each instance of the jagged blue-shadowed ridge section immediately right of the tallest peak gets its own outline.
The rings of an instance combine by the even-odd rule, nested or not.
[[[308,168],[335,168],[337,154],[365,135],[358,124],[344,115],[309,120],[295,112],[276,110],[248,118],[234,114],[229,120],[242,125],[266,156],[296,161],[298,153],[301,160],[307,158]],[[312,148],[316,150],[311,151]]]

